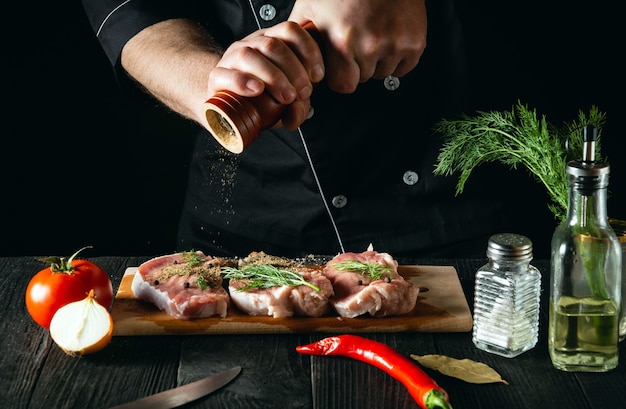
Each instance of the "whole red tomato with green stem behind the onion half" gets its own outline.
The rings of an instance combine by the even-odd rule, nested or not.
[[[81,249],[82,250],[82,249]],[[78,250],[68,260],[50,257],[50,267],[31,278],[26,288],[26,309],[32,319],[44,328],[50,328],[54,313],[70,302],[85,299],[90,290],[104,308],[113,302],[113,286],[109,275],[88,260],[75,260]]]

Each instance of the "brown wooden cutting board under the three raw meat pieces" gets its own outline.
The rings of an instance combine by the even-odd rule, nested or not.
[[[137,300],[131,289],[136,267],[126,270],[111,313],[113,335],[278,334],[295,332],[466,332],[472,316],[452,266],[400,266],[398,272],[420,288],[417,305],[395,317],[272,318],[250,316],[229,306],[225,318],[176,319],[154,305]]]

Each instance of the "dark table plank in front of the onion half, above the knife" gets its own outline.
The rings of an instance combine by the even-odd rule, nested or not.
[[[83,358],[53,348],[29,407],[108,407],[173,388],[180,349],[181,340],[172,337],[117,338]]]

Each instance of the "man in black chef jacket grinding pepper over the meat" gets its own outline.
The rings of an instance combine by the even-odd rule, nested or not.
[[[129,71],[141,88],[198,122],[179,250],[295,257],[363,251],[372,244],[396,256],[482,257],[491,234],[515,228],[519,213],[506,189],[491,183],[494,175],[485,181],[473,176],[475,188],[459,196],[455,178],[433,175],[442,141],[432,125],[466,108],[462,33],[452,1],[83,4],[120,83]],[[329,10],[333,4],[340,9]],[[286,25],[288,19],[299,25],[312,20],[321,40]],[[178,30],[201,45],[190,45]],[[398,35],[401,30],[407,38]],[[258,49],[248,65],[233,62],[229,46],[251,35],[246,40],[254,48],[259,33],[279,38],[295,63]],[[367,55],[368,33],[389,43]],[[340,38],[352,55],[337,52]],[[288,74],[257,72],[264,81],[250,83],[254,77],[225,69],[240,64],[236,68],[254,71],[259,55],[274,58]],[[218,63],[220,75],[209,80]],[[320,63],[325,72],[314,70]],[[203,78],[201,86],[177,81],[182,68]],[[302,72],[308,80],[298,77]],[[270,84],[276,78],[282,85],[293,80],[291,93]],[[230,153],[202,126],[202,103],[220,87],[241,91],[238,86],[249,85],[247,92],[254,93],[263,82],[275,96],[282,92],[284,101],[295,101],[282,118],[285,126],[263,132],[239,155]]]

